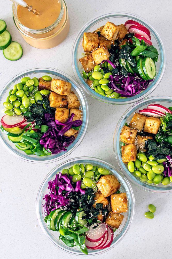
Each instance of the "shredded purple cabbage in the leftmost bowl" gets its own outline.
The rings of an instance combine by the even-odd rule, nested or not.
[[[50,113],[44,114],[42,122],[49,129],[42,135],[40,144],[44,145],[46,150],[49,149],[52,154],[58,154],[66,151],[66,147],[75,140],[75,136],[64,136],[64,133],[70,130],[71,127],[78,127],[82,124],[82,120],[72,121],[74,115],[72,113],[66,123],[60,123],[58,120],[54,121],[54,117]]]

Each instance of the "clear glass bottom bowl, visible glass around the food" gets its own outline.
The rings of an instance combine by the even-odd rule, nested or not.
[[[42,203],[45,202],[43,200],[43,197],[45,194],[49,193],[49,190],[47,188],[48,182],[55,178],[55,175],[57,172],[61,171],[64,168],[69,168],[76,163],[83,163],[83,164],[91,163],[94,166],[107,168],[108,170],[111,171],[111,173],[114,176],[116,176],[118,178],[119,182],[121,183],[120,190],[123,192],[126,192],[127,197],[128,197],[128,212],[124,213],[125,215],[124,215],[124,218],[123,218],[123,221],[122,221],[120,227],[114,232],[114,240],[113,240],[111,246],[109,248],[102,249],[102,250],[89,250],[88,249],[88,256],[102,254],[102,253],[105,253],[108,250],[114,248],[119,243],[119,241],[121,241],[121,239],[124,237],[124,235],[127,233],[128,229],[131,226],[133,218],[134,218],[135,199],[134,199],[134,194],[131,189],[131,186],[130,186],[128,180],[126,179],[126,177],[121,172],[116,170],[116,168],[114,166],[112,166],[111,164],[109,164],[101,159],[94,158],[94,157],[76,157],[73,159],[69,159],[65,162],[62,162],[61,164],[54,167],[49,172],[49,174],[43,180],[43,182],[39,188],[37,198],[36,198],[36,214],[37,214],[38,223],[39,223],[42,231],[44,232],[44,234],[51,241],[51,243],[53,243],[56,247],[60,248],[61,250],[65,251],[69,254],[73,254],[73,255],[77,255],[77,256],[79,256],[79,255],[86,256],[81,251],[77,250],[74,247],[67,247],[62,241],[60,241],[58,239],[59,232],[56,232],[56,231],[54,232],[47,228],[46,223],[44,221],[45,216],[44,216],[44,210],[42,207]]]

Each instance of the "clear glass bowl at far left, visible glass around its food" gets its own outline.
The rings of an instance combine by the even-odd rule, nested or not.
[[[16,75],[8,83],[6,83],[6,85],[0,92],[0,118],[2,118],[5,115],[2,112],[2,110],[4,109],[3,102],[6,101],[6,98],[9,95],[9,91],[13,88],[14,84],[20,83],[21,78],[25,76],[29,76],[30,78],[33,78],[33,77],[39,78],[43,75],[49,75],[52,78],[60,78],[61,80],[70,82],[72,84],[71,89],[75,92],[81,104],[80,109],[82,109],[82,125],[76,139],[70,146],[67,147],[66,152],[61,152],[59,154],[54,154],[54,155],[45,156],[45,157],[44,156],[38,157],[36,155],[32,155],[32,156],[27,155],[24,151],[17,149],[15,147],[15,144],[8,140],[7,135],[0,130],[0,141],[2,145],[15,157],[31,163],[51,163],[54,161],[58,161],[71,154],[80,145],[81,141],[83,140],[87,132],[88,123],[89,123],[89,106],[82,88],[69,75],[54,68],[28,69]]]

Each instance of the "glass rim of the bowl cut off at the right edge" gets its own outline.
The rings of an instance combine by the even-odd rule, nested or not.
[[[168,98],[168,99],[167,99]],[[142,188],[145,191],[148,192],[154,192],[154,193],[168,193],[168,192],[172,192],[172,185],[169,187],[158,187],[157,185],[148,185],[146,182],[141,182],[140,180],[138,180],[136,177],[134,177],[126,168],[125,164],[122,162],[121,159],[121,152],[120,152],[120,145],[119,145],[119,140],[120,140],[120,128],[121,125],[124,125],[124,123],[126,122],[127,118],[128,118],[128,114],[131,115],[133,114],[136,109],[138,109],[138,106],[140,106],[140,104],[144,105],[144,104],[148,104],[148,102],[171,102],[172,103],[172,97],[170,96],[151,96],[151,97],[147,97],[145,99],[143,99],[142,101],[138,101],[135,104],[133,104],[132,106],[129,107],[129,109],[127,109],[121,116],[121,118],[119,119],[115,131],[114,131],[114,136],[113,136],[113,150],[114,150],[114,155],[115,155],[115,159],[116,162],[118,163],[119,168],[122,170],[123,174],[127,177],[127,179],[133,183],[134,185],[136,185],[137,187]]]

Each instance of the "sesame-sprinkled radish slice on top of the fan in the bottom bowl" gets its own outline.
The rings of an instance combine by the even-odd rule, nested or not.
[[[97,242],[105,236],[106,232],[107,232],[107,225],[104,223],[101,223],[96,228],[89,229],[85,234],[88,241]]]

